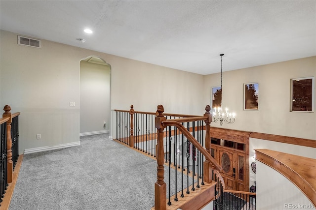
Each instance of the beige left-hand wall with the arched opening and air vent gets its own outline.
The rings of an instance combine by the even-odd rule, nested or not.
[[[20,153],[79,141],[80,60],[88,56],[112,67],[111,109],[134,104],[135,110],[155,112],[163,104],[168,113],[204,111],[202,75],[47,40],[40,49],[20,46],[17,35],[0,31],[0,106],[21,112]]]

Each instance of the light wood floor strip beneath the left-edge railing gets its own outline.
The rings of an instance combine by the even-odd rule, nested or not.
[[[13,177],[12,177],[12,182],[9,183],[9,186],[4,194],[4,197],[2,198],[2,202],[0,203],[0,210],[7,210],[9,209],[9,205],[11,202],[11,198],[13,195],[14,187],[16,184],[16,180],[18,179],[20,168],[22,165],[22,160],[23,160],[23,154],[20,154],[18,161],[15,165],[14,171],[13,171]]]

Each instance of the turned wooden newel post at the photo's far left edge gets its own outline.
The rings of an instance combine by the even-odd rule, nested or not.
[[[3,118],[9,117],[10,119],[6,121],[6,150],[7,150],[7,180],[8,183],[12,182],[12,173],[13,173],[13,162],[12,162],[12,138],[11,138],[11,123],[12,123],[12,114],[11,107],[5,105]]]

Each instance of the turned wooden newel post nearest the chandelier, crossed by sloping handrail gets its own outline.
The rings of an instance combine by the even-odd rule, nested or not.
[[[205,114],[204,117],[208,117],[207,120],[205,120],[205,149],[206,151],[211,154],[211,136],[210,136],[210,124],[212,121],[212,114],[209,112],[211,110],[211,107],[207,105],[205,107]],[[207,183],[212,182],[212,164],[209,160],[205,160],[203,163],[203,168],[204,168],[204,180]]]

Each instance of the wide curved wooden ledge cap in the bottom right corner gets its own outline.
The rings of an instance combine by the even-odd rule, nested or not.
[[[267,149],[255,151],[258,161],[294,183],[316,206],[315,159]]]

